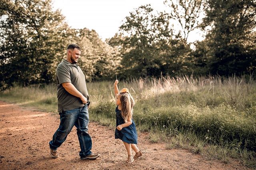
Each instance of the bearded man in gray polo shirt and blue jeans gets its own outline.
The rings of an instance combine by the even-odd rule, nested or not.
[[[76,44],[67,48],[67,57],[63,59],[56,69],[58,112],[60,126],[54,133],[50,144],[50,155],[58,158],[57,148],[66,140],[74,127],[77,128],[81,159],[96,159],[100,154],[94,154],[92,139],[88,134],[88,105],[89,95],[86,88],[85,76],[76,64],[81,54],[81,49]]]

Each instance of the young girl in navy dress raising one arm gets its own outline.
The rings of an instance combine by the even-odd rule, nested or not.
[[[126,163],[132,163],[134,159],[142,156],[142,152],[136,146],[137,132],[135,123],[132,119],[132,110],[134,106],[134,99],[130,95],[127,88],[124,88],[119,93],[118,80],[114,83],[114,93],[116,96],[116,131],[115,138],[121,139],[128,153]],[[132,149],[136,152],[132,156]]]

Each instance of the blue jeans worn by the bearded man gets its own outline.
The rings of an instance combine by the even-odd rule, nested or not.
[[[88,134],[89,115],[88,107],[79,107],[76,109],[62,111],[60,115],[60,126],[52,136],[49,142],[51,149],[57,149],[67,138],[68,134],[76,126],[77,136],[80,144],[81,151],[80,157],[86,157],[92,152],[92,139]]]

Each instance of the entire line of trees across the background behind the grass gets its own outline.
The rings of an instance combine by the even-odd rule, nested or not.
[[[106,42],[94,30],[70,28],[51,0],[0,2],[0,90],[55,82],[69,43],[82,48],[88,81],[113,79],[115,67],[120,78],[256,70],[256,0],[164,0],[164,12],[142,5]],[[188,43],[195,28],[205,39]]]

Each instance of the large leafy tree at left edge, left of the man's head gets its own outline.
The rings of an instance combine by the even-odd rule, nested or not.
[[[1,89],[55,81],[71,32],[51,0],[1,0],[0,28]]]

